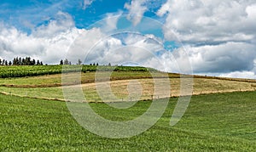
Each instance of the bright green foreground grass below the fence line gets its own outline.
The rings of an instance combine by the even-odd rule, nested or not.
[[[169,121],[177,99],[171,99],[166,113],[147,132],[109,139],[80,127],[65,103],[0,94],[0,150],[254,151],[255,98],[254,92],[195,96],[175,127]],[[139,102],[128,110],[90,105],[108,119],[126,121],[141,115],[150,102]]]

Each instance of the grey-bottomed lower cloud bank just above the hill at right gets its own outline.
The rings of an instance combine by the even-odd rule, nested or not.
[[[160,60],[172,72],[207,74],[211,76],[255,77],[256,47],[244,42],[227,42],[220,45],[184,46],[172,53],[163,53]],[[245,72],[247,71],[247,72]],[[242,74],[245,72],[244,74]],[[235,75],[239,73],[240,75]],[[254,76],[253,76],[254,75]]]

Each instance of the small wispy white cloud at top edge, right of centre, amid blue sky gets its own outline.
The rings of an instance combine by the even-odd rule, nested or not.
[[[137,25],[143,18],[143,14],[148,9],[145,4],[147,0],[132,0],[131,3],[125,3],[125,8],[129,10],[130,20],[133,25]]]

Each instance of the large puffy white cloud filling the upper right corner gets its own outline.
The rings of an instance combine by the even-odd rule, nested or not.
[[[191,44],[242,42],[255,37],[254,8],[255,2],[248,0],[168,0],[157,14],[167,14],[164,30],[168,39],[174,32],[181,41]]]

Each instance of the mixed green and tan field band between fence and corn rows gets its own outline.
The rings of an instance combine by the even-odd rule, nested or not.
[[[73,80],[73,76],[75,76],[76,73],[68,75],[70,76],[69,81],[76,82],[76,80]],[[117,101],[122,101],[127,97],[129,85],[131,85],[131,87],[137,87],[138,89],[141,88],[142,94],[140,95],[140,100],[166,98],[166,96],[162,94],[154,93],[154,79],[152,79],[151,74],[147,71],[115,71],[110,76],[110,79],[112,79],[110,82],[106,80],[95,83],[95,75],[95,72],[81,73],[81,87],[84,91],[84,97],[88,102],[102,102],[96,89],[100,84],[108,84],[111,87],[113,94],[117,96]],[[99,72],[97,75],[104,77],[106,72]],[[156,75],[160,77],[161,73],[156,73]],[[180,95],[180,83],[182,79],[178,77],[179,76],[177,74],[169,74],[172,97]],[[161,82],[161,78],[157,79]],[[183,81],[185,81],[185,79],[189,78],[184,78]],[[131,82],[135,82],[133,86]],[[164,86],[165,84],[163,83],[162,85]],[[255,82],[238,82],[225,79],[207,79],[203,77],[194,78],[191,85],[193,85],[193,94],[195,95],[206,93],[255,91],[256,89],[256,87],[254,87]],[[61,87],[61,74],[1,79],[0,93],[37,99],[64,100]],[[108,98],[107,96],[104,99],[105,102],[113,102],[113,99]]]

